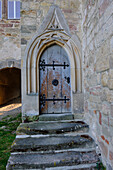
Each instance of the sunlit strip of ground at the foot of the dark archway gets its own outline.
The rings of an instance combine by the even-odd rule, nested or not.
[[[0,106],[0,120],[8,115],[17,116],[21,112],[21,98],[9,101],[7,104]]]

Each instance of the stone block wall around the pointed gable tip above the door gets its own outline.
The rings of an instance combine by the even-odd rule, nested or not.
[[[53,4],[61,8],[71,33],[76,33],[81,39],[82,4],[80,0],[23,0],[21,10],[22,56],[24,56],[26,44],[28,44],[29,40],[38,31],[50,6]]]

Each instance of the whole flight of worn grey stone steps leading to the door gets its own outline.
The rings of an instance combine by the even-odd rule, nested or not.
[[[89,127],[72,115],[42,115],[22,123],[12,144],[7,170],[94,170],[99,157]]]

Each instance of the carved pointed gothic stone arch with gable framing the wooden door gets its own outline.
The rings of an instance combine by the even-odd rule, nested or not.
[[[51,16],[51,17],[50,17]],[[66,20],[58,6],[51,6],[38,33],[26,48],[23,60],[24,95],[39,94],[39,59],[45,48],[57,44],[65,49],[71,65],[72,93],[82,91],[81,45],[76,35],[70,34]],[[39,98],[37,97],[39,104]],[[39,110],[39,108],[37,107]],[[23,110],[23,112],[25,112]],[[39,111],[38,111],[39,114]]]

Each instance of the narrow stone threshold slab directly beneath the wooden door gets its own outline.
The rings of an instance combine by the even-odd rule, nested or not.
[[[61,121],[61,120],[73,120],[74,115],[72,113],[64,114],[43,114],[39,116],[39,121]]]

